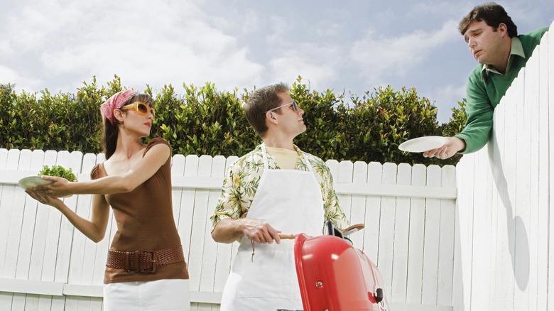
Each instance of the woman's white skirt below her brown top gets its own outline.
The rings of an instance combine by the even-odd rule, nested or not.
[[[103,311],[188,311],[188,280],[104,284]]]

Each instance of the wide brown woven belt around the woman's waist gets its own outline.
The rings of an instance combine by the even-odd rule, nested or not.
[[[126,272],[153,273],[156,267],[185,261],[183,247],[160,249],[158,251],[108,251],[108,268],[123,269]]]

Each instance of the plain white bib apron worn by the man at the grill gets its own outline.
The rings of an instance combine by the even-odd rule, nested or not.
[[[321,188],[306,155],[308,171],[270,170],[265,144],[264,173],[247,214],[286,234],[322,232],[324,210]],[[221,311],[301,310],[294,262],[294,240],[255,244],[243,236],[231,274],[223,290]]]

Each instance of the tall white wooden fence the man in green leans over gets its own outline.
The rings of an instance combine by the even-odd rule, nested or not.
[[[554,310],[553,27],[457,165],[455,310]]]

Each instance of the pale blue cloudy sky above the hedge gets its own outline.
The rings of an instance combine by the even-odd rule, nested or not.
[[[554,21],[554,0],[499,1],[526,33]],[[457,24],[481,1],[0,0],[0,83],[76,92],[114,75],[137,90],[214,82],[291,84],[359,96],[415,87],[440,123],[477,62]]]

